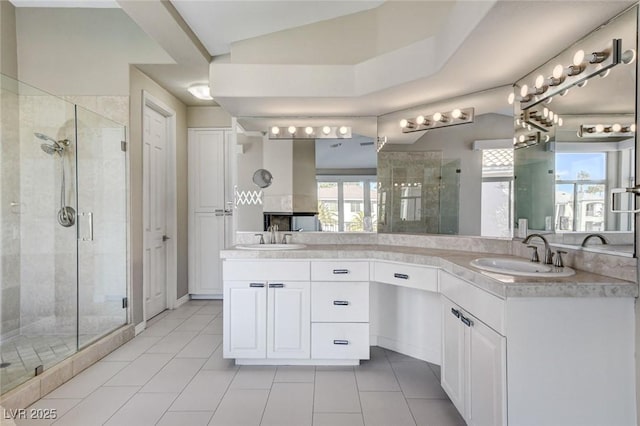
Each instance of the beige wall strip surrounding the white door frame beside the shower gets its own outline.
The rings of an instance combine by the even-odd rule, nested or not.
[[[133,323],[142,317],[142,93],[148,92],[176,112],[176,201],[178,229],[178,298],[188,292],[187,245],[187,107],[135,66],[130,67],[129,189],[131,202],[131,298]]]

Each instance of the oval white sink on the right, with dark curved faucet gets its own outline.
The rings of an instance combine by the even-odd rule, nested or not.
[[[576,271],[566,266],[559,268],[553,265],[545,265],[544,263],[505,257],[481,257],[472,260],[470,264],[483,271],[520,277],[569,277],[576,273]]]

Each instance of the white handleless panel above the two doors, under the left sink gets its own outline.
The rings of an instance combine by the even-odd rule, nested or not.
[[[225,260],[222,263],[225,281],[309,281],[309,276],[308,261]]]

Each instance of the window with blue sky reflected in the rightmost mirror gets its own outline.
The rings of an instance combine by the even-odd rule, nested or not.
[[[556,153],[556,231],[605,230],[607,154]]]

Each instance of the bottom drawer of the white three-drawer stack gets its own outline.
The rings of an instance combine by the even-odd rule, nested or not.
[[[311,358],[369,359],[369,323],[311,324]]]

